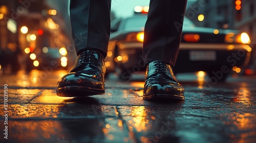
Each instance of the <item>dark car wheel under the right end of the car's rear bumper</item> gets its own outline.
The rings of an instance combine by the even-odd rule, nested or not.
[[[210,83],[223,83],[226,81],[229,72],[228,73],[222,73],[221,71],[219,71],[219,73],[215,73],[213,71],[217,71],[217,70],[211,70],[211,71],[207,71],[206,73],[209,76],[209,82]]]

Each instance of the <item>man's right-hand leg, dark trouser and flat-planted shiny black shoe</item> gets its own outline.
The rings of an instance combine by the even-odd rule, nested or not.
[[[184,88],[177,82],[172,67],[179,52],[186,2],[150,2],[143,43],[143,56],[150,63],[143,99],[184,100]]]

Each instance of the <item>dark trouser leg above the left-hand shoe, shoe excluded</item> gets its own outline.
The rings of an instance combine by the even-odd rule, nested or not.
[[[111,0],[71,0],[70,19],[76,53],[84,49],[108,51]]]

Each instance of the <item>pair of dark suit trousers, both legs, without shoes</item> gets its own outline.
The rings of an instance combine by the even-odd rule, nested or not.
[[[143,57],[175,64],[187,0],[151,0],[145,25]],[[70,17],[76,52],[108,51],[111,0],[71,0]]]

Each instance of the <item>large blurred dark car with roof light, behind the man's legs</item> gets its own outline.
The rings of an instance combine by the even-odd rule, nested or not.
[[[138,9],[138,8],[137,8]],[[148,8],[139,8],[148,10]],[[120,79],[145,70],[142,47],[147,11],[131,17],[115,19],[111,23],[106,73],[117,72]],[[251,47],[249,36],[237,30],[217,30],[195,27],[184,17],[179,55],[175,73],[205,71],[211,80],[225,81],[231,70],[239,70],[248,63]]]

